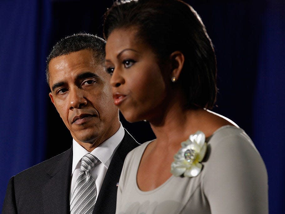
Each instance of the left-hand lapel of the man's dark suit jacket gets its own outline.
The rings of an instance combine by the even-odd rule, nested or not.
[[[70,213],[69,194],[72,168],[72,147],[51,164],[50,179],[42,189],[44,213]]]

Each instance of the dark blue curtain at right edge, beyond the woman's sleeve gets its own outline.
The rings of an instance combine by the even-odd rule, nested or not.
[[[285,213],[285,1],[267,1],[262,17],[253,140],[267,166],[271,213]]]

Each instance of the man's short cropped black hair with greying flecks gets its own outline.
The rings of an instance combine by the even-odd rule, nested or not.
[[[105,45],[106,41],[98,36],[78,33],[71,36],[67,36],[57,42],[50,52],[46,61],[46,80],[49,84],[49,62],[55,57],[67,55],[72,52],[81,51],[85,49],[91,49],[94,53],[94,57],[98,60],[98,63],[102,65],[105,62]]]

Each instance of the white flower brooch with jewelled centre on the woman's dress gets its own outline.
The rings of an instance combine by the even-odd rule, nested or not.
[[[200,162],[207,150],[205,134],[202,131],[197,131],[182,142],[181,146],[182,148],[174,155],[170,172],[174,176],[184,174],[185,177],[195,177],[202,170],[203,165]]]

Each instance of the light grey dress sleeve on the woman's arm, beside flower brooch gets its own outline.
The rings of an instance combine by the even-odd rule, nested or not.
[[[264,162],[243,133],[210,146],[203,191],[212,214],[267,214],[268,184]]]

